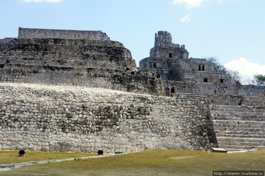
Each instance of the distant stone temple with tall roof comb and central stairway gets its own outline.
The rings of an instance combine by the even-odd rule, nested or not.
[[[157,78],[170,81],[226,83],[227,74],[214,72],[214,64],[206,59],[188,58],[185,45],[172,43],[167,31],[155,33],[155,46],[150,57],[140,60],[140,72],[155,73]]]

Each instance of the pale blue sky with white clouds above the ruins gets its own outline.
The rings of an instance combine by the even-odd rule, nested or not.
[[[189,57],[216,56],[246,79],[265,74],[264,8],[264,0],[0,0],[0,39],[19,27],[101,30],[139,66],[162,30]]]

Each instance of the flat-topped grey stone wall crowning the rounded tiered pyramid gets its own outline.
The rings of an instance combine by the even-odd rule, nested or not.
[[[31,29],[21,27],[19,27],[18,38],[110,40],[106,33],[103,33],[102,31]]]

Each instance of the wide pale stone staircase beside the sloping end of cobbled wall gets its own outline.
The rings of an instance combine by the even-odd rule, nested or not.
[[[247,106],[209,105],[219,148],[239,151],[265,147],[265,106],[248,105],[252,101],[262,104],[264,97],[257,99],[245,101]]]

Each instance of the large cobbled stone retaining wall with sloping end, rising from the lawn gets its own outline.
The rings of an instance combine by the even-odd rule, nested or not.
[[[0,150],[139,152],[217,147],[204,95],[0,83]]]

